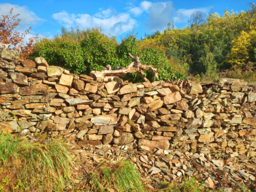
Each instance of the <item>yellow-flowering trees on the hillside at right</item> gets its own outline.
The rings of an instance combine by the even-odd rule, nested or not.
[[[148,35],[140,43],[162,47],[169,58],[187,61],[190,73],[245,68],[248,61],[256,63],[256,9],[254,4],[246,12],[223,16],[211,13],[191,15],[190,27],[167,28],[163,33]]]

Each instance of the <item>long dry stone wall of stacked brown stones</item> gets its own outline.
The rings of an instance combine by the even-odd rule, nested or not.
[[[227,147],[230,154],[256,155],[253,84],[221,79],[121,86],[72,75],[49,66],[42,57],[19,61],[18,52],[5,49],[0,55],[0,132],[23,136],[40,132],[82,144],[110,143],[147,151],[179,146],[208,154]]]

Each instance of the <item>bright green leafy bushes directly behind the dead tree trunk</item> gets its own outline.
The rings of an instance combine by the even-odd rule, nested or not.
[[[128,36],[118,44],[115,38],[109,38],[98,29],[62,29],[60,36],[37,42],[31,57],[42,56],[50,65],[65,67],[77,74],[89,74],[90,71],[103,70],[107,65],[112,69],[128,66],[132,62],[128,53],[138,55],[142,64],[157,68],[160,80],[186,77],[186,63],[177,65],[177,62],[167,59],[163,50],[157,47],[139,47],[134,35]],[[146,71],[145,75],[151,81],[154,80],[151,71]],[[138,74],[127,74],[124,79],[141,80]]]

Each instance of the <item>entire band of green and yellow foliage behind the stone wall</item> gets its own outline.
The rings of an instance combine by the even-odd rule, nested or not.
[[[220,16],[195,12],[189,27],[175,29],[167,24],[163,31],[137,40],[129,35],[118,43],[98,29],[66,30],[54,39],[41,39],[34,46],[31,58],[42,56],[50,65],[65,67],[73,73],[89,74],[110,65],[126,67],[132,62],[128,53],[139,56],[143,65],[152,65],[159,80],[184,79],[187,73],[216,79],[226,69],[246,70],[250,63],[250,79],[256,77],[256,9],[246,12],[227,10]],[[144,72],[151,81],[151,71]],[[232,74],[232,73],[230,73]],[[243,77],[242,77],[243,78]],[[127,74],[125,80],[141,81],[138,74]]]

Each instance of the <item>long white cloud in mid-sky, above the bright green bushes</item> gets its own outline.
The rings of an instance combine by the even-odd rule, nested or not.
[[[116,13],[115,10],[102,10],[95,15],[69,14],[66,11],[53,14],[53,18],[67,28],[79,26],[79,28],[100,27],[102,32],[109,35],[118,35],[134,28],[136,20],[129,13]]]

